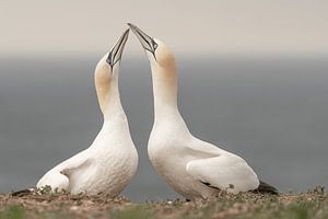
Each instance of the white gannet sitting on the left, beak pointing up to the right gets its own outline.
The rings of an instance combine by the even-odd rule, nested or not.
[[[95,68],[95,87],[104,124],[85,150],[48,171],[36,187],[51,186],[71,194],[117,196],[138,166],[138,153],[130,137],[127,116],[119,99],[118,71],[128,39],[127,30]]]

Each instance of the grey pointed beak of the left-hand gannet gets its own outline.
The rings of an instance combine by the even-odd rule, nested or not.
[[[107,64],[113,68],[117,62],[120,61],[125,45],[129,37],[129,28],[119,37],[118,42],[110,49],[106,59]]]

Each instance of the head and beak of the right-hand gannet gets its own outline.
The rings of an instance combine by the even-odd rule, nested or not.
[[[128,23],[128,25],[140,41],[152,67],[160,67],[164,69],[175,68],[175,58],[168,46],[160,39],[150,37],[138,26],[131,23]]]

